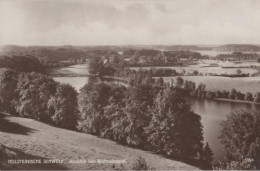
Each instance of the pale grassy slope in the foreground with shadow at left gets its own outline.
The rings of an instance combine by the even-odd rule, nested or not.
[[[17,158],[49,159],[126,159],[124,169],[131,167],[133,159],[143,156],[156,169],[194,170],[182,162],[166,159],[150,152],[133,149],[96,136],[56,128],[32,119],[1,114],[0,143],[18,151]],[[1,126],[2,125],[2,126]],[[1,165],[1,162],[0,162]],[[112,169],[111,164],[60,164],[53,169]],[[52,166],[25,165],[12,168],[49,169]],[[115,165],[120,168],[119,165]],[[1,169],[1,168],[0,168]]]

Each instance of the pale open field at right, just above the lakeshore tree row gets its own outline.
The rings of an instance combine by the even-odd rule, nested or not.
[[[176,80],[176,78],[177,77],[164,77],[164,80],[171,82],[172,79]],[[182,76],[182,78],[195,82],[196,86],[200,83],[206,84],[206,90],[211,91],[230,91],[232,88],[235,88],[242,93],[260,92],[260,77]]]

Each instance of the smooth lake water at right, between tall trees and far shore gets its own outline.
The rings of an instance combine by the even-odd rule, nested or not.
[[[226,120],[227,115],[237,110],[260,110],[260,105],[243,104],[236,102],[224,102],[206,99],[188,99],[192,110],[201,116],[204,141],[208,142],[214,152],[214,162],[223,158],[223,150],[220,140],[220,123]]]

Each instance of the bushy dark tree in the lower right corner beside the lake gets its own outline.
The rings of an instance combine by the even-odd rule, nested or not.
[[[227,162],[256,160],[260,151],[260,116],[244,110],[232,112],[221,123],[220,140]]]

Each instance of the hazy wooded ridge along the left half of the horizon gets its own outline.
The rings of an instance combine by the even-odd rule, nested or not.
[[[68,61],[87,59],[96,56],[118,55],[112,47],[88,47],[88,46],[15,46],[6,45],[0,47],[0,55],[25,56],[30,55],[40,61]]]

